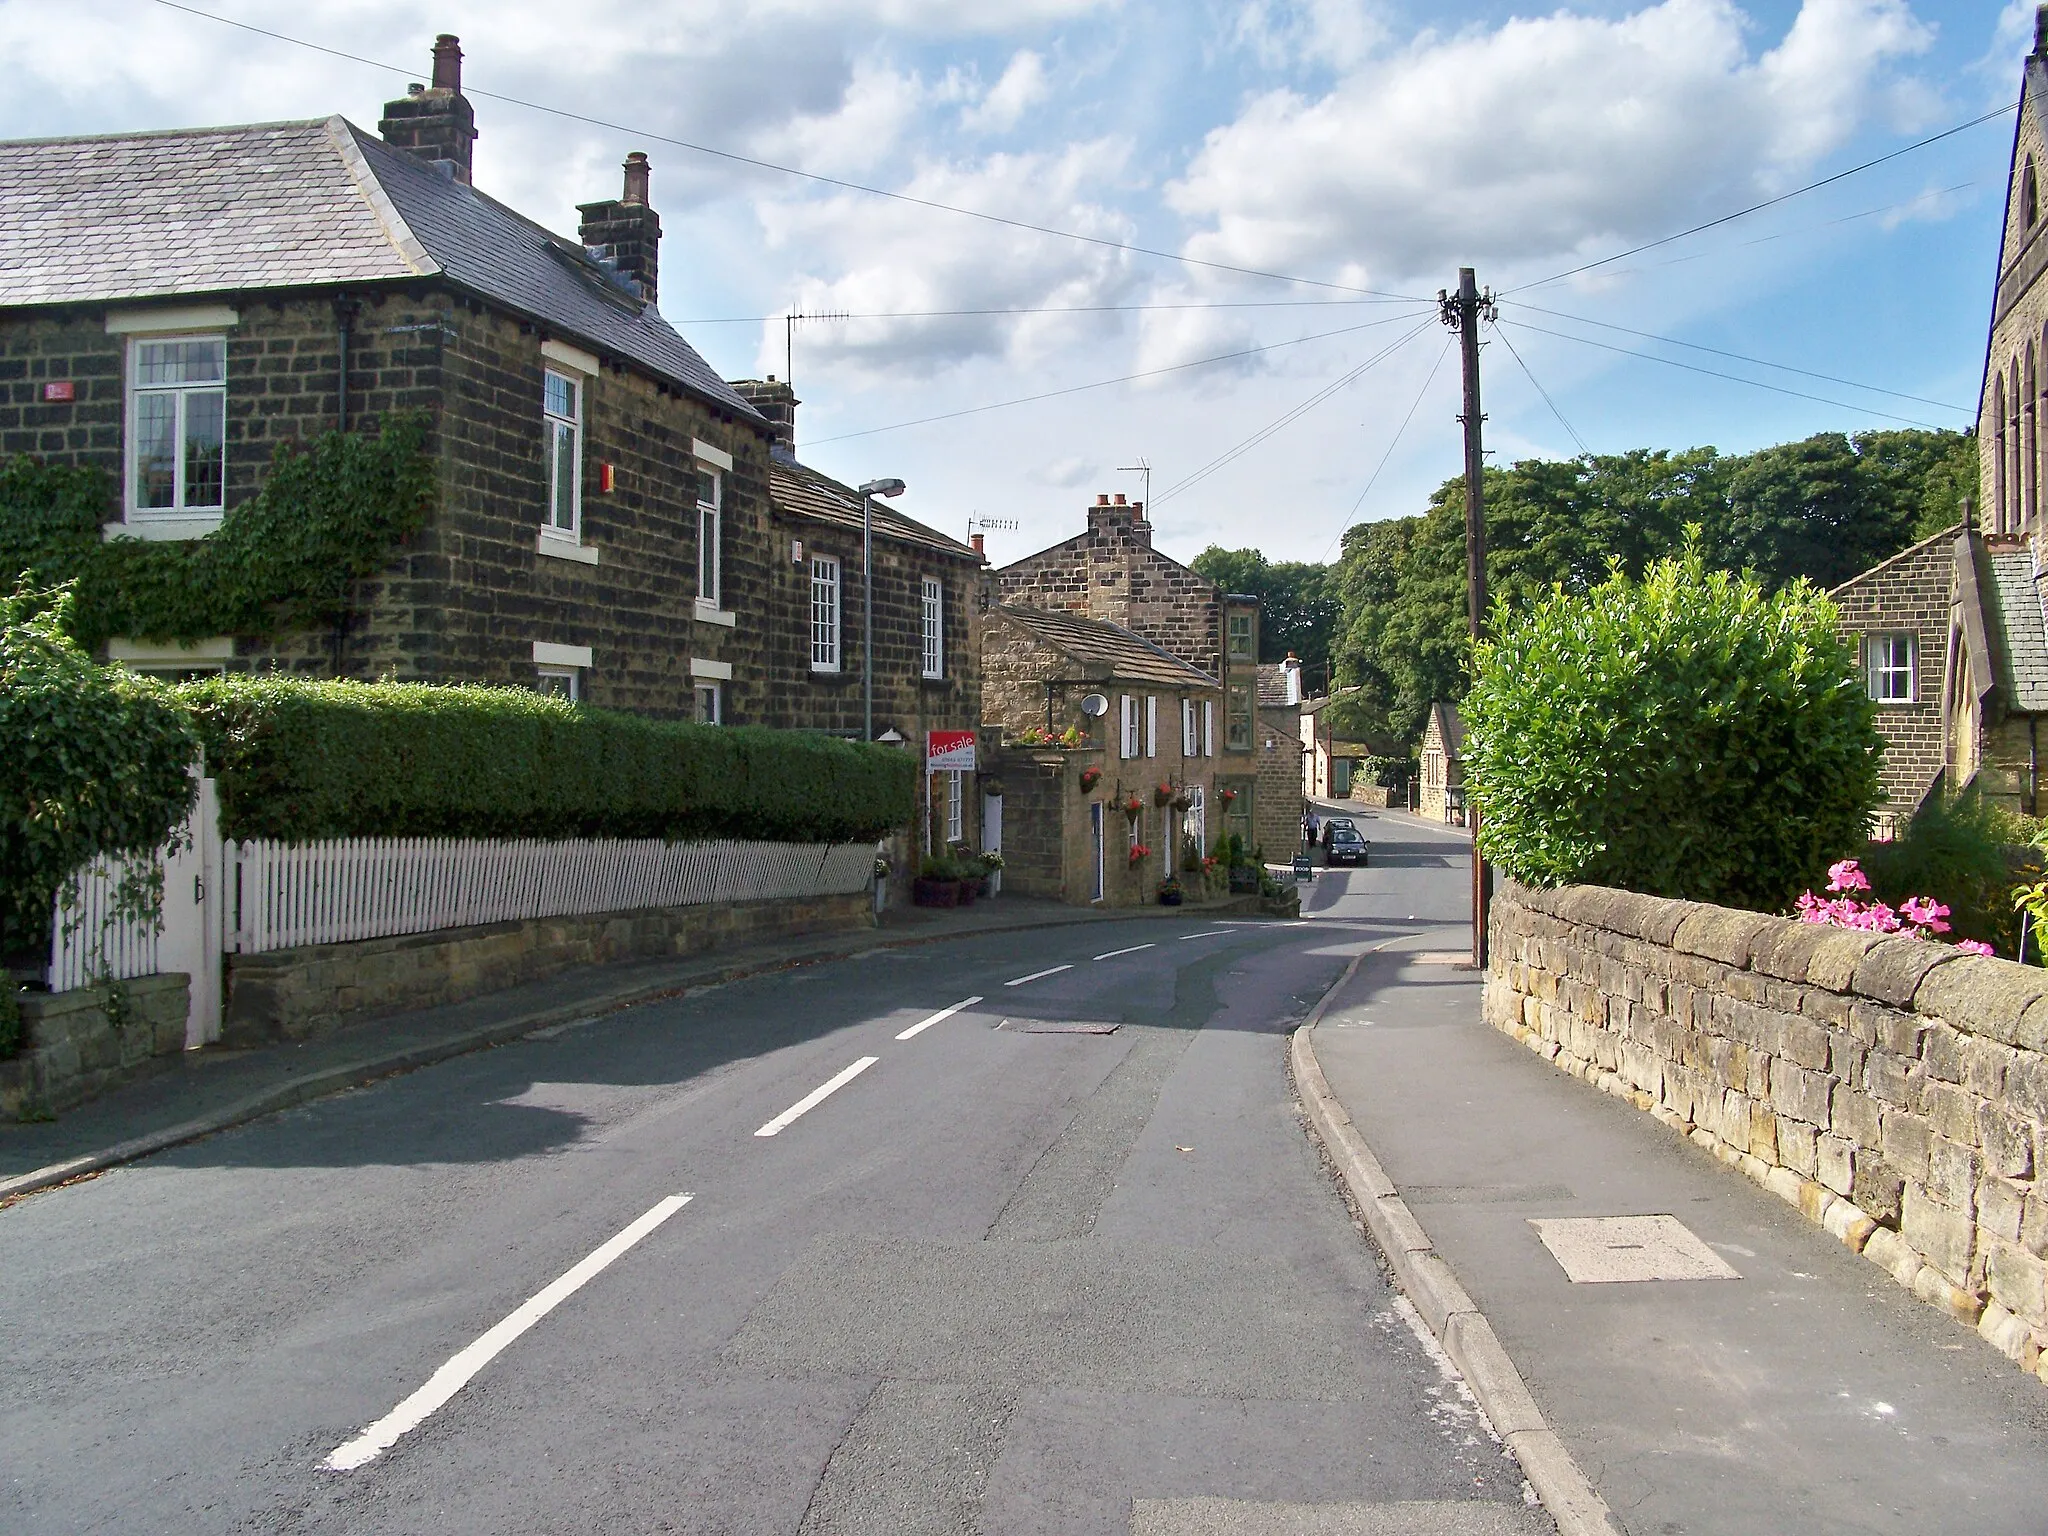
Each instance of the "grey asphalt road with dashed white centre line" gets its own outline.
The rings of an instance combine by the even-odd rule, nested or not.
[[[1292,1104],[1350,954],[1462,944],[1382,825],[1300,924],[760,977],[0,1210],[0,1528],[1550,1530]]]

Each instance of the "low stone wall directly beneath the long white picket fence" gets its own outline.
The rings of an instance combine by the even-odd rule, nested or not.
[[[868,891],[592,918],[442,928],[354,944],[229,954],[223,1044],[326,1034],[354,1018],[459,1004],[580,965],[651,961],[842,928],[872,928]],[[182,1014],[180,1028],[182,1028]]]

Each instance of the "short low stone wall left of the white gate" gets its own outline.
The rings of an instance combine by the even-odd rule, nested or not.
[[[115,1012],[106,1010],[109,993],[121,999]],[[18,997],[23,1049],[0,1061],[0,1114],[8,1120],[76,1108],[174,1065],[184,1051],[182,971]]]

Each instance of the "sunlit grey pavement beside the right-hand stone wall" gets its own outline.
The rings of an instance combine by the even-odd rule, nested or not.
[[[1776,1196],[1491,1030],[1460,965],[1468,842],[1405,815],[1362,825],[1372,866],[1319,877],[1305,911],[1415,928],[1368,946],[1309,1030],[1313,1059],[1614,1522],[2048,1530],[2040,1384]],[[1657,1221],[1554,1225],[1616,1217]],[[1620,1278],[1645,1262],[1720,1278]]]

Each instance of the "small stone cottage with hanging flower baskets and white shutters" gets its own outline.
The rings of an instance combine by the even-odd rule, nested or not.
[[[995,604],[981,616],[981,688],[1001,737],[989,772],[1004,786],[1004,889],[1145,905],[1253,784],[1241,766],[1225,772],[1217,680],[1122,625]]]

